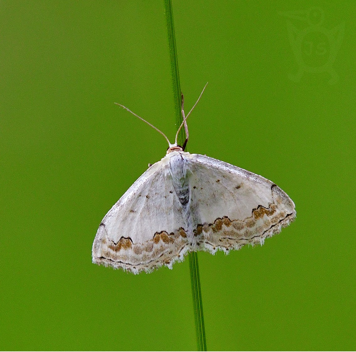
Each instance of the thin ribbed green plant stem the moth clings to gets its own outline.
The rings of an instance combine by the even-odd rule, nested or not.
[[[178,56],[176,48],[176,37],[174,34],[172,0],[164,0],[164,11],[166,13],[169,58],[171,60],[172,88],[174,98],[174,110],[176,114],[177,128],[183,122],[182,98],[179,83]],[[183,145],[185,140],[184,128],[180,129],[178,135],[178,145]],[[203,316],[203,303],[201,300],[200,277],[197,252],[189,253],[190,282],[192,284],[192,295],[194,305],[195,329],[197,332],[198,351],[206,351],[205,327]]]

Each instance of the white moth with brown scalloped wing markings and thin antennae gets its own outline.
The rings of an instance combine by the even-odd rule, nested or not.
[[[171,144],[157,129],[169,143],[167,154],[105,215],[94,239],[93,263],[135,274],[162,265],[172,268],[190,251],[228,253],[245,244],[262,245],[294,220],[292,199],[273,182],[184,151],[190,112],[184,116],[182,96],[180,128],[184,124],[187,134],[182,147],[177,145],[179,130]]]

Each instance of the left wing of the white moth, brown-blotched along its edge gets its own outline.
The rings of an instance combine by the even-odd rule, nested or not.
[[[133,273],[182,260],[189,250],[182,207],[173,190],[169,158],[144,172],[102,220],[93,263]]]

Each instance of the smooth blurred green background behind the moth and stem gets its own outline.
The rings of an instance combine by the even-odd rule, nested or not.
[[[312,5],[316,27],[308,1],[173,3],[186,110],[209,81],[188,150],[297,209],[262,247],[199,252],[209,350],[356,348],[356,7]],[[101,219],[167,149],[114,102],[175,134],[163,1],[3,1],[0,26],[1,350],[194,350],[188,260],[138,276],[91,263]],[[290,79],[328,59],[333,82]]]

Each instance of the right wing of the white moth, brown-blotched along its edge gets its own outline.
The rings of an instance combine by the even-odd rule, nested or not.
[[[267,178],[208,156],[187,158],[199,249],[215,253],[263,244],[294,220],[292,199]]]

